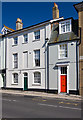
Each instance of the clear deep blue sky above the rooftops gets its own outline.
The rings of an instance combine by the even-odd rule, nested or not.
[[[57,2],[60,17],[78,19],[74,8],[77,2]],[[21,18],[23,28],[52,19],[53,2],[3,2],[2,25],[16,30],[16,20]]]

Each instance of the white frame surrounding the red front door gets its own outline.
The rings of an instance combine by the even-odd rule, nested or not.
[[[69,66],[68,65],[58,66],[58,94],[61,93],[61,79],[60,79],[61,67],[67,67],[67,94],[69,94]]]

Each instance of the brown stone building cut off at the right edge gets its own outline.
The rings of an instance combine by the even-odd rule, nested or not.
[[[83,2],[74,5],[76,11],[78,12],[78,27],[79,27],[79,36],[81,36],[79,44],[79,91],[80,95],[83,96]],[[81,31],[81,33],[80,33]]]

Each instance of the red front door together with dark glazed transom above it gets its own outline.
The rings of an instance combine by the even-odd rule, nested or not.
[[[67,92],[67,67],[61,67],[60,82],[61,82],[60,92],[66,93]]]

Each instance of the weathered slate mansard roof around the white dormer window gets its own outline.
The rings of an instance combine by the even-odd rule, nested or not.
[[[49,43],[56,43],[56,42],[62,42],[62,41],[67,41],[67,40],[69,41],[69,40],[77,39],[78,36],[76,34],[75,29],[72,32],[59,34],[59,24],[56,24],[56,25],[53,24]]]

